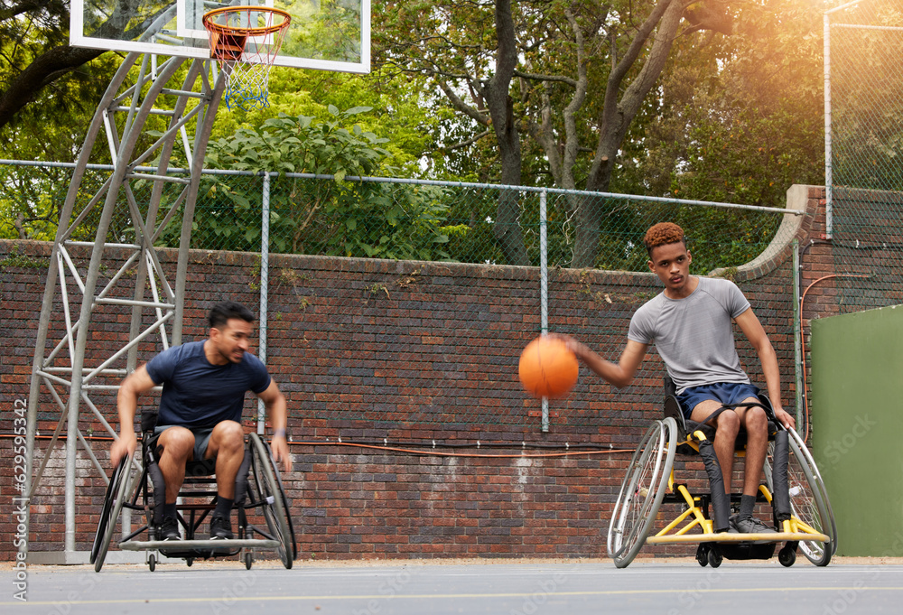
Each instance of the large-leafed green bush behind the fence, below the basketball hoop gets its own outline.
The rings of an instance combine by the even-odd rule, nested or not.
[[[270,189],[270,245],[275,252],[441,259],[448,236],[443,191],[409,189],[348,177],[391,172],[384,165],[387,139],[354,123],[369,107],[340,111],[331,119],[280,115],[259,129],[239,128],[209,145],[209,167],[279,172]],[[285,173],[332,175],[331,181],[285,177]],[[253,179],[253,182],[248,182]],[[205,181],[194,219],[195,247],[255,250],[259,247],[262,178]],[[168,229],[164,243],[177,241]]]

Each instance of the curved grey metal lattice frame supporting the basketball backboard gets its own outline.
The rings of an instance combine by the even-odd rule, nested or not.
[[[34,496],[63,426],[66,429],[65,534],[63,550],[53,552],[44,563],[78,564],[87,553],[76,551],[75,486],[79,444],[92,466],[108,482],[98,456],[91,450],[79,426],[84,407],[88,417],[97,419],[114,438],[116,431],[98,410],[92,396],[109,395],[122,378],[137,365],[138,343],[160,340],[163,348],[181,343],[183,297],[188,270],[191,223],[200,186],[200,172],[207,151],[210,130],[225,89],[225,75],[210,61],[172,57],[159,65],[150,54],[126,56],[98,105],[72,175],[69,192],[60,214],[41,318],[34,347],[32,381],[28,397],[28,467],[26,492]],[[214,78],[210,78],[213,70]],[[172,79],[184,75],[181,88],[172,88]],[[168,126],[160,134],[160,120]],[[151,120],[151,118],[156,118]],[[150,121],[149,121],[150,120]],[[83,181],[101,131],[107,136],[113,170],[106,182],[85,202]],[[154,132],[158,131],[158,132]],[[193,132],[193,140],[189,134]],[[149,144],[149,145],[148,145]],[[173,153],[181,145],[191,172],[188,177],[168,175]],[[153,162],[153,174],[138,172],[143,163]],[[150,184],[150,190],[146,187]],[[143,197],[143,194],[149,194]],[[164,228],[182,215],[182,236],[175,284],[167,280],[154,243]],[[90,227],[86,220],[92,220]],[[127,219],[129,239],[110,238],[114,219]],[[93,243],[78,241],[88,228],[96,228]],[[72,249],[90,247],[87,269],[72,258]],[[113,259],[111,250],[116,249]],[[113,261],[116,266],[107,266]],[[103,280],[103,283],[102,283]],[[150,296],[147,296],[148,291]],[[74,305],[80,309],[74,312]],[[131,297],[131,298],[129,298]],[[130,310],[129,340],[111,344],[108,340],[91,344],[98,332],[98,317],[110,314],[127,317]],[[118,311],[118,312],[116,312]],[[125,312],[125,314],[123,314]],[[64,331],[49,331],[51,316],[61,313]],[[149,313],[149,316],[148,316]],[[153,338],[152,336],[156,336]],[[102,337],[102,336],[99,336]],[[50,342],[50,343],[48,343]],[[88,356],[86,350],[89,349]],[[68,396],[66,392],[68,391]],[[42,396],[52,403],[42,406]],[[49,407],[47,407],[49,406]],[[34,438],[38,413],[58,414],[51,442],[41,467],[33,475]],[[127,521],[124,519],[124,530]],[[42,554],[50,555],[50,554]]]

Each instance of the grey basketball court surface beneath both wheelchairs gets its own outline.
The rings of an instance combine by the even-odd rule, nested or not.
[[[13,571],[0,568],[0,611],[12,613],[267,613],[383,615],[424,613],[727,613],[794,615],[898,613],[903,565],[797,561],[783,568],[729,562],[702,568],[691,560],[537,563],[298,562],[285,570],[258,562],[28,568],[28,602],[13,599]]]

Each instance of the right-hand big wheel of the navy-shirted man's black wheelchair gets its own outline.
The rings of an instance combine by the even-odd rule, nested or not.
[[[267,529],[280,543],[277,547],[279,558],[286,568],[291,568],[295,558],[294,529],[292,518],[288,516],[288,502],[282,481],[279,480],[269,447],[256,433],[251,433],[248,441],[251,447],[255,496],[264,502],[261,512]]]

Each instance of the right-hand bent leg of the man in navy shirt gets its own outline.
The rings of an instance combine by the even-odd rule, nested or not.
[[[211,538],[231,538],[229,513],[235,501],[235,480],[245,459],[245,430],[235,421],[222,421],[213,428],[204,459],[216,457],[217,506],[210,518]]]

